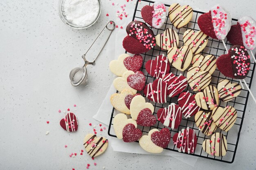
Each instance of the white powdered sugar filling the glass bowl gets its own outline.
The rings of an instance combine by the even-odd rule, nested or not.
[[[101,13],[101,0],[59,0],[61,20],[74,29],[92,26]]]

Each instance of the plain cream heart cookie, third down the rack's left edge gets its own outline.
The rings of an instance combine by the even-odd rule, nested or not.
[[[119,110],[122,113],[130,115],[130,110],[125,103],[126,96],[130,95],[133,96],[132,92],[130,90],[124,89],[123,91],[121,91],[121,94],[112,94],[110,97],[110,102],[115,109]]]

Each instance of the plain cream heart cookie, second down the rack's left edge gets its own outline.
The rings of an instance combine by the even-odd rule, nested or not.
[[[124,89],[130,90],[132,92],[132,94],[136,94],[137,90],[134,88],[131,88],[127,82],[127,78],[129,77],[129,75],[134,75],[135,73],[133,71],[126,71],[123,74],[123,77],[117,77],[114,79],[113,81],[113,85],[114,87],[118,90],[118,91],[123,91]]]

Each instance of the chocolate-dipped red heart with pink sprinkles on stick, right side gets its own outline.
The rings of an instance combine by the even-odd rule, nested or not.
[[[250,70],[250,55],[245,46],[234,45],[228,54],[220,55],[217,59],[217,67],[220,72],[231,78],[245,79]]]

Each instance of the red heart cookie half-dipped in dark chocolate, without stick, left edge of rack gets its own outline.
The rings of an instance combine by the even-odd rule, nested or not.
[[[141,21],[132,21],[126,27],[128,34],[123,40],[123,47],[128,53],[146,53],[155,46],[155,35]]]

